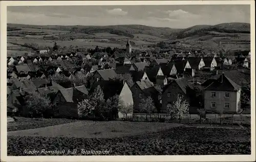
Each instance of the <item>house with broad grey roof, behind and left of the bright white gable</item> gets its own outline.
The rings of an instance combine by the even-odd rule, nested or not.
[[[93,85],[94,82],[114,79],[116,76],[116,72],[112,68],[96,71],[89,80],[89,86]]]

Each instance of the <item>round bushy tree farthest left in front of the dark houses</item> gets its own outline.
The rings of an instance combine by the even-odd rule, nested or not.
[[[25,97],[28,112],[33,118],[34,115],[42,115],[50,107],[50,99],[41,96],[38,92],[33,92]]]

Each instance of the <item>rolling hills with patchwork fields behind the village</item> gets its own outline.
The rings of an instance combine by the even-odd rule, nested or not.
[[[132,48],[154,50],[157,43],[165,42],[165,49],[245,51],[250,50],[250,24],[225,23],[215,26],[198,25],[186,29],[157,28],[142,25],[116,26],[37,26],[7,24],[9,44],[36,43],[39,48],[52,47],[54,41],[61,47],[125,48],[130,38]],[[54,40],[53,40],[54,39]],[[19,49],[18,51],[16,49]],[[22,53],[22,47],[8,46],[12,54]],[[16,50],[16,51],[15,51]],[[25,49],[24,49],[25,50]],[[28,49],[26,49],[27,52]],[[32,50],[33,52],[33,50]]]

